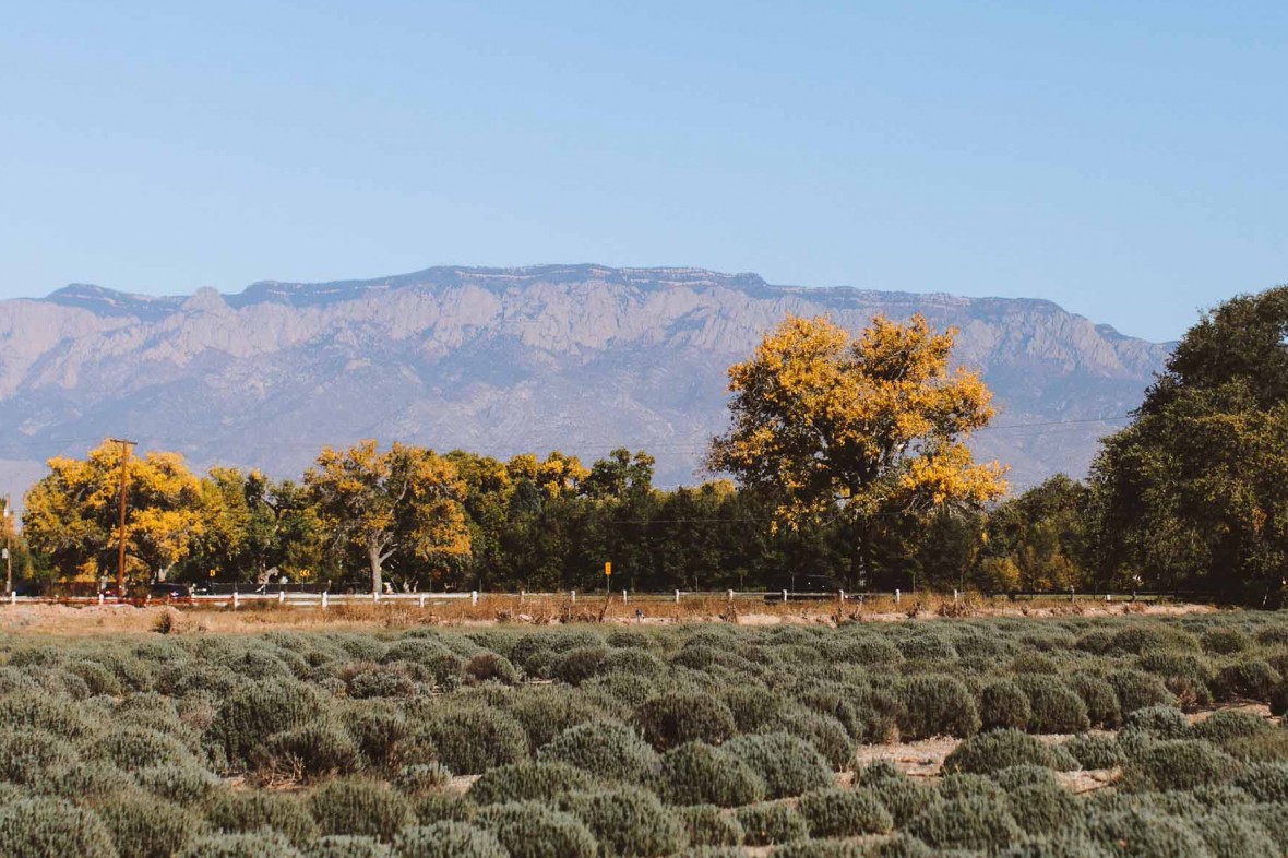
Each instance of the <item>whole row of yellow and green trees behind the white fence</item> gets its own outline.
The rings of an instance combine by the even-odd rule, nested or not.
[[[966,442],[990,393],[920,317],[851,336],[788,318],[729,370],[712,479],[365,441],[300,479],[131,455],[53,459],[24,499],[19,575],[270,577],[332,590],[1185,590],[1278,605],[1288,567],[1288,287],[1204,314],[1086,481],[1005,497]],[[611,562],[612,578],[604,563]]]

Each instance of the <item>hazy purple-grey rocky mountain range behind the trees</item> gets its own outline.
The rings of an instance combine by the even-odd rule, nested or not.
[[[0,303],[0,479],[106,435],[192,465],[298,477],[359,438],[497,456],[613,447],[690,483],[726,423],[725,368],[784,314],[851,329],[876,313],[960,330],[956,362],[997,394],[976,452],[1025,487],[1082,475],[1168,347],[1042,300],[770,286],[693,268],[430,268],[147,298],[72,285]],[[1033,425],[1045,424],[1045,425]]]

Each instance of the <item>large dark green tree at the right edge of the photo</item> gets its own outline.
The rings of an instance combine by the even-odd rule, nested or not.
[[[1206,313],[1092,466],[1115,586],[1279,605],[1288,568],[1288,286]]]

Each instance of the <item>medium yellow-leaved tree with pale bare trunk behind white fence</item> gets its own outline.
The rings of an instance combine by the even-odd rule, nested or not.
[[[345,451],[325,447],[304,484],[332,542],[366,557],[372,593],[384,587],[385,563],[395,554],[404,566],[420,563],[433,573],[434,566],[470,551],[461,505],[466,486],[456,466],[431,450],[395,443],[381,452],[375,441]]]

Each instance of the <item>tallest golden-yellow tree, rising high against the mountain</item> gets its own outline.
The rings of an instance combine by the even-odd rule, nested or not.
[[[877,316],[857,338],[826,317],[788,316],[729,367],[732,425],[707,468],[770,499],[775,527],[848,519],[850,578],[863,584],[884,533],[1006,490],[1005,469],[976,464],[965,444],[992,419],[992,393],[949,370],[954,336],[920,314]]]

